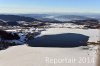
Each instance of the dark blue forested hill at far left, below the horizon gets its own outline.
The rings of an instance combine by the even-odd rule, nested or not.
[[[0,25],[18,25],[17,21],[33,22],[38,20],[18,15],[0,15]]]

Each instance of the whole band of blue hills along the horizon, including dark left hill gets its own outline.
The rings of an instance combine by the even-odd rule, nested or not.
[[[61,23],[69,22],[73,20],[98,20],[99,15],[66,15],[66,14],[17,14],[17,15],[4,15],[0,14],[0,25],[5,23],[10,25],[18,24],[18,21],[33,22],[51,22],[51,23]]]

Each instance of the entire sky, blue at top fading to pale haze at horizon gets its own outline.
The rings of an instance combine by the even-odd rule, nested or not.
[[[100,13],[100,0],[0,0],[0,13]]]

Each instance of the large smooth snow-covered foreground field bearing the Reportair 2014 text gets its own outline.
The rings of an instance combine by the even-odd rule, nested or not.
[[[0,66],[96,66],[92,52],[82,47],[15,46],[0,51]]]

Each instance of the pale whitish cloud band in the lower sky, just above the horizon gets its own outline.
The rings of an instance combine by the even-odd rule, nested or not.
[[[96,9],[75,8],[0,8],[0,13],[100,13]]]

